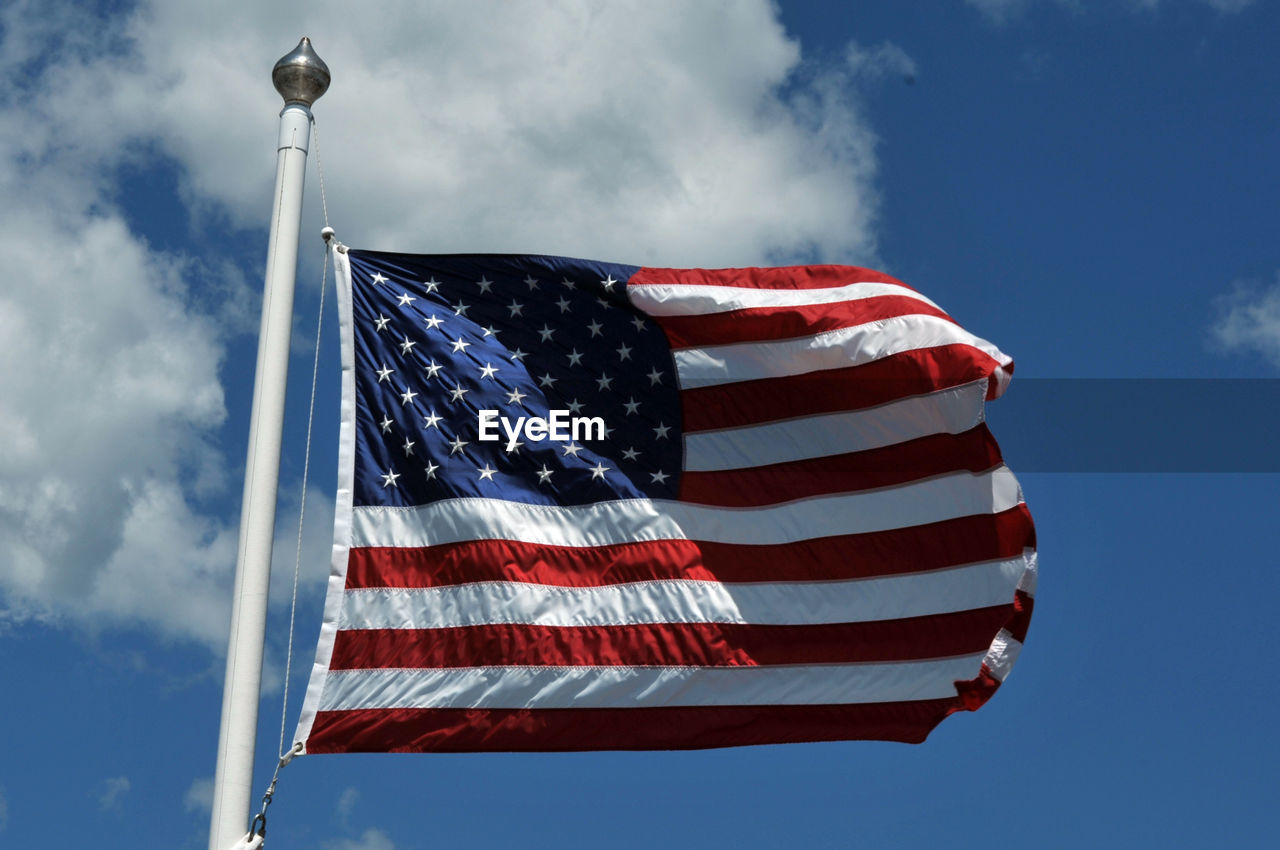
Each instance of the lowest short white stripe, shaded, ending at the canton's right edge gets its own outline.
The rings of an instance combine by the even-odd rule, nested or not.
[[[904,398],[878,407],[781,422],[685,434],[691,472],[786,463],[865,452],[931,434],[960,434],[983,420],[987,380]]]

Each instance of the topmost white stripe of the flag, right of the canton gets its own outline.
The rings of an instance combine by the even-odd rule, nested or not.
[[[895,283],[851,283],[820,289],[755,289],[750,287],[709,287],[698,284],[637,284],[627,296],[650,316],[700,316],[751,307],[803,307],[805,305],[860,301],[878,296],[906,296],[940,309],[919,292]]]

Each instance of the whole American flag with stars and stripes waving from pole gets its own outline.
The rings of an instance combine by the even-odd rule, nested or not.
[[[334,253],[308,753],[922,741],[1027,632],[1012,361],[851,266]]]

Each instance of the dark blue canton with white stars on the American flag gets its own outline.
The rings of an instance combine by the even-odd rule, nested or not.
[[[680,393],[637,266],[349,251],[357,506],[675,498]],[[479,412],[602,417],[603,440],[479,439]]]

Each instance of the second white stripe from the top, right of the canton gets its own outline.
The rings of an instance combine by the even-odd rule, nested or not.
[[[892,355],[966,344],[1001,364],[1010,358],[986,339],[946,319],[895,316],[780,342],[746,342],[672,352],[681,389],[860,366]]]

